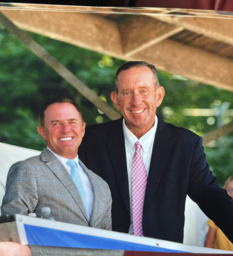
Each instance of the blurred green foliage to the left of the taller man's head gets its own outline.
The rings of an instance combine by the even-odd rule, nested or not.
[[[0,33],[0,141],[42,150],[45,142],[36,131],[38,113],[47,98],[67,96],[80,105],[87,125],[109,119],[2,28]],[[103,56],[48,37],[30,33],[51,55],[108,104],[117,67],[124,61]]]

